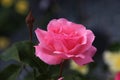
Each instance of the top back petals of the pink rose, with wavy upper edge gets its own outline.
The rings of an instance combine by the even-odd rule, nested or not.
[[[53,19],[49,22],[47,30],[55,33],[66,33],[70,34],[71,32],[77,31],[83,33],[86,28],[81,24],[76,24],[68,21],[67,19]]]

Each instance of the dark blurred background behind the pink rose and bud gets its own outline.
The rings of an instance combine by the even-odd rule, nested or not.
[[[90,64],[90,68],[94,69],[90,70],[91,73],[88,71],[93,74],[92,77],[95,76],[93,80],[112,80],[111,74],[119,71],[120,66],[116,71],[109,69],[112,64],[106,62],[105,56],[120,54],[120,0],[0,0],[0,52],[15,42],[29,39],[25,23],[29,11],[35,18],[34,42],[37,42],[34,34],[37,27],[46,29],[51,19],[66,18],[85,25],[96,35],[94,45],[98,51],[94,56],[95,62]],[[114,53],[110,51],[113,44]],[[110,61],[113,58],[107,59]]]

